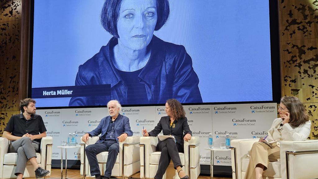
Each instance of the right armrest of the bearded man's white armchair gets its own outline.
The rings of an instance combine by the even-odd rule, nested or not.
[[[51,166],[52,145],[53,145],[53,138],[51,136],[46,136],[41,139],[40,154],[41,154],[42,168],[46,169],[46,166]]]

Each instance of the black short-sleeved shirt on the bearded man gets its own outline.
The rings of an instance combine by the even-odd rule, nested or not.
[[[11,134],[17,137],[22,137],[26,133],[38,135],[46,132],[43,119],[37,114],[31,115],[29,120],[26,120],[23,114],[13,115],[4,130],[9,133],[12,132]],[[34,141],[41,142],[41,139],[35,139]]]

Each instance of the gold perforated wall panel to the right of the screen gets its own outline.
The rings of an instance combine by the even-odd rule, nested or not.
[[[298,97],[312,121],[310,139],[318,137],[318,1],[280,0],[282,96]]]

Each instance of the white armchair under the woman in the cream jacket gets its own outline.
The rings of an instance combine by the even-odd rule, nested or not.
[[[243,179],[249,162],[248,151],[259,139],[231,141],[233,178]],[[318,178],[318,140],[280,142],[280,161],[269,162],[264,179],[313,179]]]

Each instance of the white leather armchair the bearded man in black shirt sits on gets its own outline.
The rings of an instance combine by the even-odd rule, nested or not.
[[[10,140],[0,137],[0,178],[17,178],[14,175],[17,166],[17,153],[8,153]],[[51,160],[52,160],[52,137],[43,137],[41,140],[40,153],[37,154],[38,165],[50,173],[51,175]],[[45,177],[46,177],[45,176]],[[33,166],[30,161],[26,163],[26,168],[23,174],[24,178],[35,177]]]

